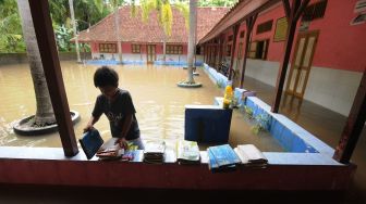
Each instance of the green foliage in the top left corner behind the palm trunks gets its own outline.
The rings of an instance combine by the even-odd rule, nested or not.
[[[123,0],[114,0],[122,4]],[[72,51],[74,43],[69,0],[49,0],[59,51]],[[87,29],[112,12],[106,0],[74,0],[77,30]],[[0,0],[0,53],[24,52],[25,43],[16,0]]]

